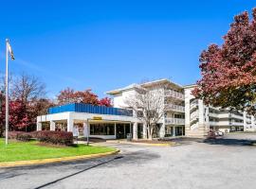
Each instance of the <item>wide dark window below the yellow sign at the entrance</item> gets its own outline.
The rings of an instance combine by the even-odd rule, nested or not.
[[[115,135],[114,124],[90,124],[91,135]]]

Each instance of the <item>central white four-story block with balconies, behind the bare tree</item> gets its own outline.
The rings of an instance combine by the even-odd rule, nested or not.
[[[107,92],[113,97],[114,107],[128,108],[125,101],[131,95],[137,93],[137,86],[138,84],[132,84]],[[161,93],[159,97],[162,97],[163,106],[166,107],[164,117],[160,119],[158,127],[155,129],[155,137],[185,135],[185,96],[183,87],[168,79],[145,82],[139,84],[139,87],[147,90],[157,90],[157,93]],[[141,132],[141,136],[145,135],[145,129],[144,132],[142,128],[138,129],[138,131]]]

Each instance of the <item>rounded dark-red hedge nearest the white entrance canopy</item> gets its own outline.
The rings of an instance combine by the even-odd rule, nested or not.
[[[34,133],[40,142],[53,145],[71,146],[73,144],[73,133],[66,131],[41,130]]]

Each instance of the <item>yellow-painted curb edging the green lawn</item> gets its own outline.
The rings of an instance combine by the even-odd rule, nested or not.
[[[7,162],[7,163],[0,163],[0,168],[24,166],[24,165],[37,165],[37,164],[46,164],[46,163],[71,162],[71,161],[77,161],[77,160],[102,158],[102,157],[118,154],[119,151],[120,151],[119,149],[116,149],[115,151],[104,152],[99,154],[88,154],[88,155],[70,156],[70,157],[63,157],[63,158],[50,158],[50,159],[43,159],[43,160]]]

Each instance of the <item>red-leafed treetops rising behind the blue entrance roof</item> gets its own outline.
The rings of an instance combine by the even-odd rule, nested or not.
[[[91,89],[84,91],[75,91],[70,88],[66,88],[60,92],[57,96],[58,104],[63,105],[67,103],[84,103],[92,104],[96,106],[107,106],[111,107],[111,99],[104,97],[99,99],[97,94],[94,94]]]

